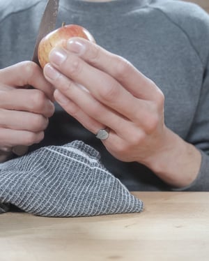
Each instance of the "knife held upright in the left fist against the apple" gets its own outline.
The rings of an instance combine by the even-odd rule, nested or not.
[[[40,40],[44,36],[46,36],[47,33],[55,29],[58,10],[59,10],[59,0],[47,1],[47,5],[45,6],[45,10],[40,21],[38,35],[36,38],[36,44],[33,50],[33,58],[32,58],[32,61],[38,64],[39,66],[40,64],[38,61],[38,45],[40,43]],[[28,147],[24,145],[18,145],[13,147],[12,151],[18,156],[22,156],[26,154],[26,152],[28,151]]]

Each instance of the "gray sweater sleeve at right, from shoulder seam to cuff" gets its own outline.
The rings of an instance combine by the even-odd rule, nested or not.
[[[185,139],[201,152],[201,166],[192,184],[173,190],[209,191],[209,15],[196,4],[183,1],[164,2],[160,10],[185,33],[202,66],[202,70],[196,70],[202,72],[196,75],[202,79],[200,86],[196,86],[200,89],[199,103]]]

